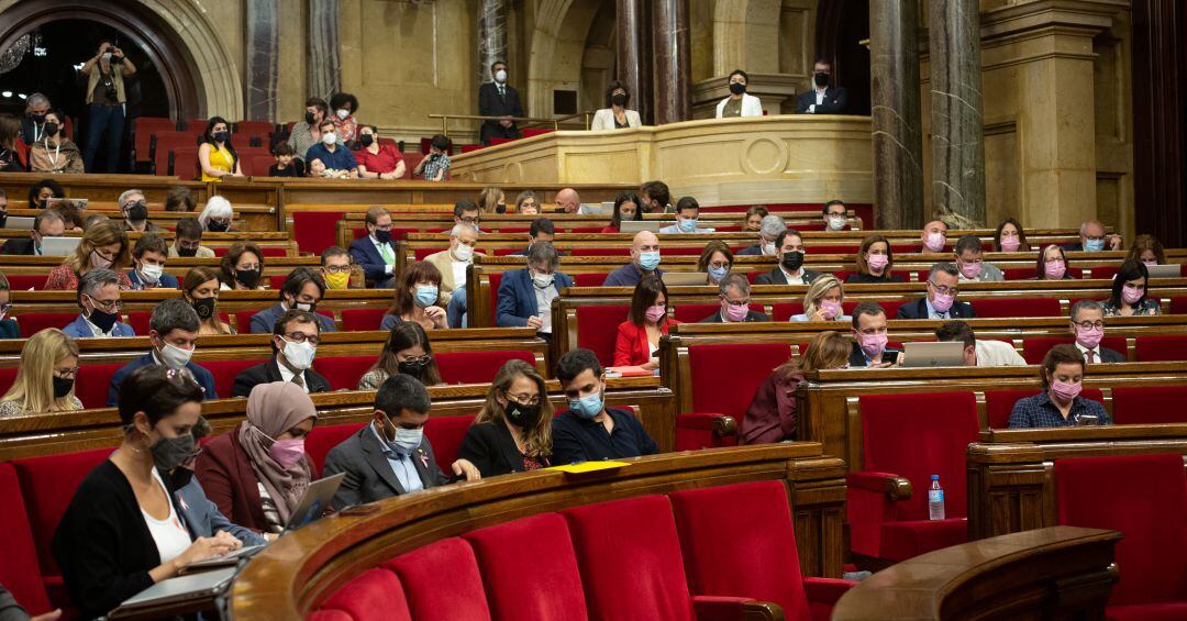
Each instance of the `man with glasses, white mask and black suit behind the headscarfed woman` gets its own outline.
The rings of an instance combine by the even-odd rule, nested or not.
[[[322,329],[312,312],[285,311],[272,328],[272,360],[241,370],[235,376],[235,397],[247,397],[256,384],[273,381],[291,381],[307,393],[330,392],[330,382],[310,368],[320,342]]]

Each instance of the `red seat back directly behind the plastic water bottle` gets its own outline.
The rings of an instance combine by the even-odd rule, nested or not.
[[[915,493],[897,502],[899,520],[927,519],[927,488],[940,475],[947,518],[964,518],[965,448],[977,442],[971,392],[869,394],[861,399],[863,470],[907,477]]]

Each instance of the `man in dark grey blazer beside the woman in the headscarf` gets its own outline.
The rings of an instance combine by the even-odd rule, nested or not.
[[[411,375],[396,374],[375,393],[373,420],[325,457],[323,476],[345,473],[330,506],[336,511],[447,484],[425,437],[429,391]],[[466,460],[452,463],[458,479],[475,481],[478,469]]]

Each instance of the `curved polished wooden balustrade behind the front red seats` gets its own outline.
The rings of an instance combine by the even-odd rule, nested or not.
[[[844,464],[815,443],[713,449],[628,460],[582,476],[557,470],[499,476],[389,499],[366,515],[334,515],[283,537],[235,581],[237,620],[300,619],[337,588],[432,541],[526,515],[646,494],[748,481],[788,486],[800,565],[840,575]]]

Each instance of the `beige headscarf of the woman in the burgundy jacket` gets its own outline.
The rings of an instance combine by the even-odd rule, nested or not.
[[[281,526],[288,521],[309,486],[309,460],[301,460],[290,470],[281,468],[268,451],[275,438],[307,418],[317,419],[317,410],[305,391],[291,381],[259,384],[247,398],[247,420],[239,426],[239,443],[252,461],[256,479],[264,483]]]

